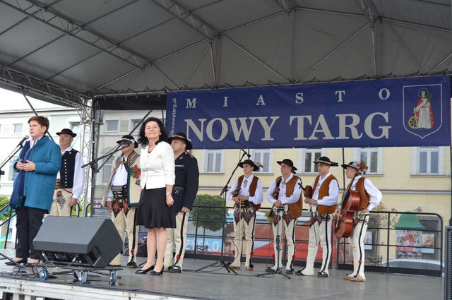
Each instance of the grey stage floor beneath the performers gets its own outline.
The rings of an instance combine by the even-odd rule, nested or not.
[[[3,252],[13,255],[12,251]],[[124,258],[125,259],[125,258]],[[143,262],[143,258],[138,258]],[[35,293],[54,291],[54,297],[66,295],[59,299],[366,299],[366,300],[405,300],[405,299],[443,299],[444,278],[396,275],[377,272],[367,272],[367,282],[349,282],[342,279],[346,271],[330,270],[330,278],[300,277],[292,275],[290,280],[280,275],[255,277],[262,273],[267,265],[256,264],[254,271],[237,270],[239,275],[228,275],[224,268],[210,267],[203,272],[190,272],[203,265],[212,263],[210,260],[195,260],[187,258],[184,261],[185,272],[172,274],[165,272],[161,276],[136,275],[136,269],[121,270],[115,287],[108,282],[73,283],[73,275],[58,275],[56,279],[18,279],[8,277],[12,267],[0,261],[0,292],[20,289],[30,286]],[[30,268],[28,268],[30,269]],[[89,279],[90,276],[88,276]],[[107,277],[95,277],[95,280],[108,280]],[[11,287],[8,287],[11,286]],[[37,288],[39,287],[39,289]],[[56,292],[57,289],[61,292]],[[67,292],[64,292],[64,291]],[[29,293],[30,294],[30,293]],[[36,294],[39,296],[40,294]],[[84,296],[83,296],[84,295]],[[95,295],[95,296],[94,296]]]

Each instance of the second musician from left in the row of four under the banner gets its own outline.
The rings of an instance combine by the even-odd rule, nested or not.
[[[275,272],[282,268],[283,251],[280,251],[279,258],[277,258],[278,251],[276,236],[279,234],[281,237],[279,245],[281,249],[281,241],[283,241],[282,232],[284,227],[285,238],[287,240],[287,264],[285,272],[287,274],[292,274],[292,262],[295,258],[295,225],[297,224],[297,218],[302,215],[303,210],[302,179],[294,175],[297,168],[294,166],[292,160],[285,158],[277,163],[281,166],[282,176],[276,178],[266,192],[267,200],[273,203],[271,215],[273,217],[272,227],[275,265],[273,265],[273,267],[268,267],[266,272]],[[283,211],[278,211],[278,208],[283,209]],[[276,232],[278,220],[280,222],[279,232]]]

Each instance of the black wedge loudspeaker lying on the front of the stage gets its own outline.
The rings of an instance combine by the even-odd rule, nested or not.
[[[44,261],[105,268],[122,249],[110,219],[46,217],[33,242]]]

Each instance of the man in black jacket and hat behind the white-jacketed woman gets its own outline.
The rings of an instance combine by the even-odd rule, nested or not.
[[[163,260],[163,270],[180,273],[184,263],[189,212],[198,193],[199,169],[196,158],[187,152],[187,150],[191,150],[192,145],[185,133],[176,133],[169,138],[169,142],[174,152],[176,174],[172,188],[172,198],[176,210],[176,228],[167,228],[167,248]],[[174,244],[176,244],[176,253],[173,259]]]

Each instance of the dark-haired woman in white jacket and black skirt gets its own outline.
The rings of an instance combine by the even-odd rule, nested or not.
[[[174,185],[174,154],[167,143],[165,127],[157,118],[148,118],[140,129],[141,144],[140,203],[136,212],[136,224],[148,229],[148,260],[137,274],[161,275],[167,244],[167,228],[176,228],[176,212],[171,196]],[[155,251],[157,250],[157,262]],[[155,263],[155,264],[154,264]]]

